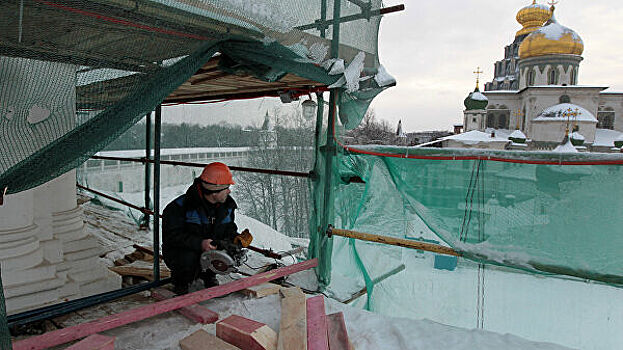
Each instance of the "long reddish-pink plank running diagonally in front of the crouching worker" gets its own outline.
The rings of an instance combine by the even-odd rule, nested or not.
[[[52,346],[64,344],[72,340],[84,338],[94,333],[103,332],[108,329],[126,325],[128,323],[144,320],[155,315],[180,309],[184,306],[197,304],[204,300],[227,295],[296,272],[308,270],[316,267],[317,265],[318,259],[311,259],[302,263],[263,272],[251,277],[241,278],[239,280],[224,284],[222,286],[202,289],[194,293],[181,295],[177,298],[167,299],[154,304],[144,305],[115,315],[102,317],[98,320],[94,320],[91,322],[79,324],[64,329],[59,329],[39,336],[17,341],[13,344],[13,350],[39,350],[50,348]]]

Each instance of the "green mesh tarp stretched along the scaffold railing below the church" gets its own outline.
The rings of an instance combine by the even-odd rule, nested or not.
[[[338,150],[332,202],[338,228],[436,239],[476,262],[623,284],[621,155]],[[364,183],[350,181],[357,177]],[[361,263],[363,252],[350,244],[367,284],[391,270]],[[333,256],[347,248],[340,249]]]

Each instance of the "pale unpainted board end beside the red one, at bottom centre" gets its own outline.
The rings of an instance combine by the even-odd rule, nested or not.
[[[278,350],[307,349],[305,294],[299,287],[281,288],[281,322]]]

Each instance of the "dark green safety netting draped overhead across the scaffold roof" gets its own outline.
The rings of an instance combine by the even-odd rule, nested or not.
[[[356,126],[384,84],[374,79],[380,17],[370,12],[382,4],[364,5],[341,2],[351,20],[332,55],[333,26],[314,23],[327,24],[334,1],[4,2],[0,187],[20,192],[75,168],[216,53],[224,72],[337,83],[341,118]],[[329,74],[332,57],[346,69]]]

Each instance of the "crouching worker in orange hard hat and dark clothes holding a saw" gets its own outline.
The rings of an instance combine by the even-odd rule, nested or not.
[[[162,257],[171,270],[176,294],[188,293],[188,287],[197,278],[203,280],[206,288],[218,285],[214,272],[201,271],[200,257],[203,252],[217,249],[216,241],[234,241],[237,236],[237,205],[229,196],[229,186],[233,184],[227,165],[210,163],[186,193],[164,209]]]

